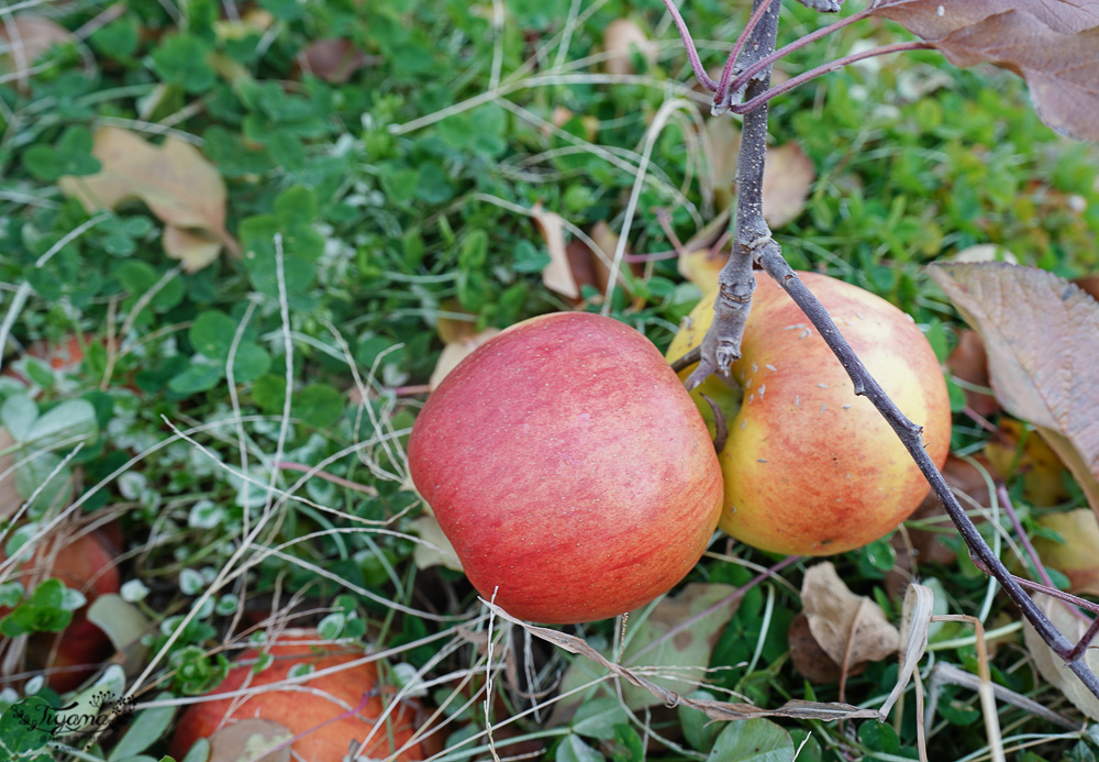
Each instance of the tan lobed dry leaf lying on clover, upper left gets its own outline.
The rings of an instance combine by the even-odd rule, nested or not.
[[[97,174],[58,183],[89,212],[141,199],[165,223],[165,251],[189,273],[210,264],[222,246],[238,251],[225,230],[225,183],[193,146],[174,137],[156,146],[106,126],[96,131],[92,155],[102,165]]]

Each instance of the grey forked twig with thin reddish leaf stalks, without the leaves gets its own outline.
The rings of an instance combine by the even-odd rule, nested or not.
[[[686,24],[679,16],[670,2],[667,0],[673,19],[679,29],[680,36],[687,47],[688,58],[691,66],[699,76],[700,81],[708,90],[714,91],[720,87],[711,87],[713,80],[704,76],[698,54],[690,40],[690,33]],[[1023,590],[1019,582],[1003,566],[999,557],[985,542],[985,539],[977,531],[976,526],[966,515],[950,485],[934,461],[924,450],[923,428],[910,421],[881,389],[878,383],[863,365],[862,361],[851,349],[851,344],[843,338],[836,328],[828,310],[820,301],[806,288],[804,284],[787,264],[782,257],[781,249],[770,235],[763,217],[763,172],[767,151],[767,101],[785,92],[790,87],[796,87],[802,81],[807,81],[813,76],[824,74],[839,65],[857,60],[858,57],[867,55],[880,55],[882,53],[898,52],[902,49],[914,49],[925,47],[922,43],[901,43],[899,45],[887,45],[885,47],[868,51],[866,54],[856,54],[846,58],[833,62],[823,67],[808,71],[799,77],[795,77],[785,82],[779,88],[770,88],[770,65],[778,56],[775,54],[775,40],[778,31],[778,10],[781,3],[774,0],[753,0],[753,20],[758,16],[758,23],[751,30],[747,40],[743,45],[743,60],[736,62],[742,66],[742,74],[730,82],[730,88],[739,86],[742,80],[746,80],[744,102],[736,107],[729,106],[729,111],[744,114],[744,123],[741,131],[741,146],[737,165],[737,202],[735,218],[730,222],[733,232],[733,246],[729,262],[718,276],[718,298],[713,305],[713,323],[707,331],[699,347],[698,367],[685,382],[687,389],[693,389],[711,374],[718,373],[721,377],[729,377],[731,363],[740,357],[741,340],[744,335],[744,324],[752,308],[752,292],[755,289],[755,278],[752,274],[753,262],[758,263],[770,275],[779,286],[786,290],[795,302],[817,328],[829,347],[839,358],[855,387],[855,394],[866,397],[875,408],[889,422],[893,431],[904,444],[909,454],[915,461],[924,477],[931,484],[935,495],[942,500],[947,515],[954,521],[958,533],[969,548],[970,555],[977,564],[983,567],[986,574],[991,574],[1003,587],[1004,593],[1019,607],[1023,616],[1030,620],[1039,636],[1048,647],[1061,656],[1068,669],[1076,674],[1088,691],[1099,697],[1099,677],[1088,667],[1084,661],[1084,653],[1087,642],[1099,630],[1099,625],[1092,625],[1088,633],[1081,640],[1081,644],[1073,644],[1062,632],[1054,627],[1050,619],[1042,612],[1037,605]],[[858,18],[855,14],[851,19]],[[825,31],[835,31],[851,21],[837,22],[826,30],[817,33],[823,36]],[[812,35],[810,35],[812,36]],[[815,37],[813,37],[815,38]],[[807,40],[806,42],[811,42]],[[737,43],[740,45],[740,43]],[[797,43],[796,43],[797,44]],[[803,43],[802,43],[803,44]],[[784,48],[789,52],[790,46]],[[726,67],[729,68],[729,67]],[[700,74],[701,73],[701,74]],[[751,73],[751,74],[750,74]],[[724,77],[723,77],[724,79]],[[721,95],[721,93],[719,93]],[[718,112],[723,109],[729,96],[717,101]],[[677,372],[682,369],[677,367],[680,364],[690,366],[687,361],[691,357],[688,353],[676,363],[673,368]],[[1099,621],[1099,620],[1097,620]]]

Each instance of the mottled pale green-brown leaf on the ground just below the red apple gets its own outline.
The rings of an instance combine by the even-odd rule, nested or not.
[[[722,604],[735,589],[718,583],[692,583],[679,595],[664,598],[644,620],[629,622],[626,645],[619,662],[643,671],[654,685],[689,693],[706,677],[718,637],[740,606],[739,598]],[[606,674],[607,670],[599,664],[574,661],[562,678],[560,692],[567,693]],[[659,696],[643,685],[625,685],[622,695],[633,709],[660,703]],[[581,702],[582,695],[578,694],[558,711],[567,714]]]

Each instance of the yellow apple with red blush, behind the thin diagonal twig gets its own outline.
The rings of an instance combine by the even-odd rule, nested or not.
[[[939,361],[914,322],[857,286],[798,273],[886,394],[923,426],[928,454],[946,461],[951,409]],[[721,529],[788,555],[862,548],[903,521],[930,489],[897,434],[851,379],[800,308],[756,273],[742,357],[732,375],[744,398],[719,454]],[[668,350],[701,343],[714,294],[695,308]],[[686,376],[693,368],[682,373]],[[703,402],[704,404],[704,402]]]

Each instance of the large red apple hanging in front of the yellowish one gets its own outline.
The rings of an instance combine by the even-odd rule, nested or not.
[[[659,351],[610,318],[512,325],[429,398],[420,494],[466,575],[512,616],[606,619],[670,589],[721,509],[713,444]]]

